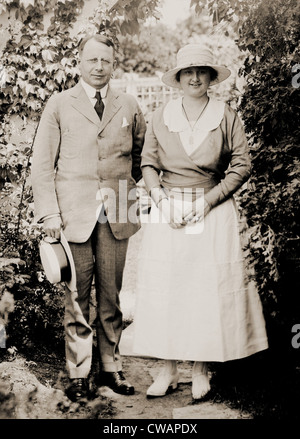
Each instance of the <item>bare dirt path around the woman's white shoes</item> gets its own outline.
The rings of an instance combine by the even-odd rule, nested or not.
[[[112,400],[112,419],[246,419],[249,414],[233,410],[225,404],[214,403],[211,395],[195,402],[191,394],[192,363],[179,362],[180,373],[176,391],[161,397],[146,397],[147,388],[157,376],[161,361],[137,357],[124,357],[123,369],[135,386],[132,396],[117,395],[110,389],[100,391]]]

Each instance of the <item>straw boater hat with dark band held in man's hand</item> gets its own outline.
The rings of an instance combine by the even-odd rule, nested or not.
[[[52,284],[65,282],[71,291],[75,291],[75,265],[71,249],[63,232],[60,234],[60,241],[45,237],[40,243],[39,250],[48,281]]]

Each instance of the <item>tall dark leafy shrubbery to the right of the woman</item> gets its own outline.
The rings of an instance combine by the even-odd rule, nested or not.
[[[283,304],[286,290],[296,288],[292,280],[298,282],[299,270],[300,108],[292,71],[300,62],[300,5],[297,0],[191,3],[198,12],[206,4],[216,22],[229,22],[246,54],[241,74],[247,85],[239,110],[253,164],[250,186],[241,193],[250,227],[250,262],[267,315],[292,325],[293,305],[287,315]],[[295,300],[299,303],[296,293]]]

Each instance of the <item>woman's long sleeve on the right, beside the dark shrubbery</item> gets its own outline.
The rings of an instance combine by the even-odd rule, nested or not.
[[[248,180],[251,173],[248,142],[238,115],[230,109],[229,117],[222,125],[231,159],[225,178],[205,195],[211,208],[231,197]]]

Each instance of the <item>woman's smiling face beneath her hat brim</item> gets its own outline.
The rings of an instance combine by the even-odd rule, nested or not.
[[[210,72],[207,67],[187,67],[180,71],[180,85],[184,94],[201,97],[206,94],[210,84]]]

